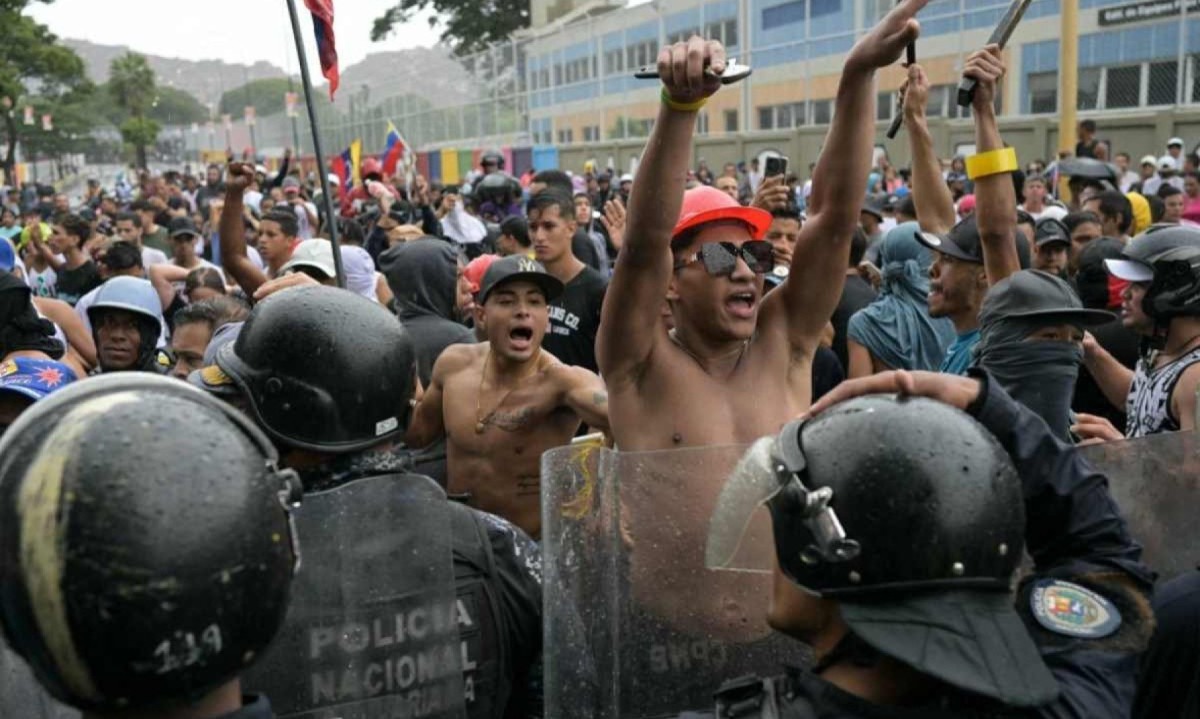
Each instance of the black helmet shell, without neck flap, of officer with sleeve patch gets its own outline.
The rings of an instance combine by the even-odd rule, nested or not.
[[[870,437],[870,443],[863,443]],[[924,399],[844,402],[779,437],[796,481],[770,502],[780,568],[823,597],[936,587],[1007,591],[1021,559],[1021,484],[996,439]],[[830,558],[804,517],[823,487],[857,553]]]

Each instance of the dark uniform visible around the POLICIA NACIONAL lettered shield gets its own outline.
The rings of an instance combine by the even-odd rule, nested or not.
[[[366,451],[300,472],[306,491],[412,471],[404,454]],[[463,693],[469,719],[541,715],[541,550],[496,515],[451,502]],[[403,529],[403,527],[397,527]]]

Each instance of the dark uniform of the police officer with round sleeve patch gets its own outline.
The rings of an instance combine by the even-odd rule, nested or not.
[[[1153,573],[1141,563],[1141,546],[1129,535],[1108,480],[1074,447],[1056,439],[1039,417],[979,370],[979,400],[968,408],[1004,447],[1021,475],[1026,505],[1026,550],[1034,574],[1022,581],[1018,611],[1046,667],[1058,682],[1054,702],[1031,709],[1006,708],[954,691],[922,707],[884,707],[829,684],[808,670],[790,669],[769,679],[745,677],[716,693],[722,719],[874,719],[908,717],[1124,718],[1135,691],[1136,654],[1153,628],[1147,597]],[[1103,639],[1066,636],[1037,621],[1030,593],[1043,580],[1082,586],[1121,615],[1120,629]],[[774,712],[774,713],[773,713]]]

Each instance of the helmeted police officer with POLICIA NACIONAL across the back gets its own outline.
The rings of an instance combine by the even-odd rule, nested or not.
[[[322,349],[319,358],[312,354],[313,348]],[[232,381],[247,405],[247,414],[280,449],[281,466],[300,474],[308,507],[317,495],[329,497],[349,492],[355,496],[355,487],[364,487],[364,483],[437,493],[438,501],[425,505],[394,502],[380,508],[373,502],[350,502],[334,516],[324,517],[326,522],[322,528],[331,537],[320,546],[306,547],[305,569],[310,581],[299,585],[293,604],[304,603],[313,611],[313,606],[328,600],[323,592],[355,586],[346,585],[352,579],[360,582],[370,579],[350,569],[359,567],[356,555],[342,553],[342,545],[371,552],[380,546],[379,543],[395,541],[413,552],[428,555],[437,550],[452,555],[443,558],[448,571],[454,563],[446,580],[451,585],[446,588],[448,597],[452,603],[457,595],[461,607],[457,629],[462,648],[455,654],[461,655],[467,715],[499,719],[532,711],[529,675],[541,651],[540,552],[511,523],[446,502],[445,495],[428,478],[412,474],[410,457],[394,451],[395,443],[408,427],[418,387],[413,340],[396,317],[378,302],[344,289],[319,286],[283,289],[254,307],[236,341],[216,353],[216,367],[204,370],[202,378],[215,387]],[[322,526],[320,517],[306,517],[305,511],[301,508],[301,528],[305,522]],[[437,538],[421,533],[424,511],[449,514],[445,532],[450,537],[445,543],[439,544]],[[371,562],[377,571],[401,573],[396,579],[420,580],[420,576],[403,574],[403,563],[394,559],[389,555],[373,557]],[[432,607],[415,604],[424,603],[416,597],[422,588],[413,587],[414,595],[398,587],[386,587],[382,589],[385,595],[378,597],[353,591],[336,593],[338,601],[350,603],[360,615],[378,612],[373,633],[378,640],[379,627],[401,627],[403,617],[398,615],[418,609],[425,612],[419,624],[406,625],[428,627],[426,619]],[[313,622],[319,627],[314,628]],[[340,664],[329,671],[341,676],[346,663],[334,663],[329,658],[341,655],[338,647],[354,643],[336,641],[328,631],[328,622],[320,622],[307,612],[289,616],[286,634],[292,639],[286,652],[276,651],[252,675],[253,683],[247,681],[250,688],[266,689],[281,714],[290,715],[317,706],[331,707],[337,697],[358,699],[355,691],[398,700],[409,691],[437,685],[438,677],[427,677],[427,672],[415,683],[412,679],[391,681],[397,663],[410,659],[406,654],[412,651],[407,648],[410,641],[395,634],[403,628],[384,633],[371,647],[371,655],[378,659],[355,664],[356,669],[344,681],[335,679],[331,684],[320,681],[316,670],[307,672],[305,669],[317,666],[325,658],[322,666]],[[324,637],[322,647],[328,651],[311,653],[310,631],[316,633],[314,637]],[[364,639],[367,637],[364,635]],[[458,649],[457,637],[455,649]],[[317,657],[318,653],[322,655]],[[356,663],[358,659],[354,658]],[[382,675],[388,677],[386,689]],[[310,676],[311,685],[306,684]],[[401,672],[400,676],[407,675]],[[294,689],[296,682],[304,685],[302,690],[286,691],[286,696],[276,699],[276,687]],[[356,689],[346,688],[350,685]],[[365,719],[396,715],[386,711],[384,699],[377,711],[355,715]],[[289,706],[282,705],[284,700]]]

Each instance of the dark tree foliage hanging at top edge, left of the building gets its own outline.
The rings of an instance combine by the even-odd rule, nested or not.
[[[430,7],[430,28],[443,23],[442,41],[460,56],[505,42],[515,31],[529,26],[529,0],[401,0],[376,18],[371,40],[388,37],[396,25]]]

